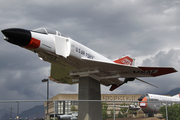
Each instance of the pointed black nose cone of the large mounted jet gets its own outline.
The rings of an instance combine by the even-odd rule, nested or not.
[[[10,28],[1,31],[5,35],[5,40],[19,46],[26,46],[31,41],[29,30],[20,28]]]

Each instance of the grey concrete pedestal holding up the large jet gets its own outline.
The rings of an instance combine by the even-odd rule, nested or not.
[[[79,100],[101,100],[100,82],[91,77],[80,77],[78,97]],[[102,120],[101,102],[79,102],[78,120]]]

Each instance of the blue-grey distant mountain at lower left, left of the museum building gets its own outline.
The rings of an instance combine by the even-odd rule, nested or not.
[[[19,116],[22,119],[27,118],[31,120],[33,120],[34,118],[43,118],[45,116],[44,105],[37,105],[29,110],[25,110]]]

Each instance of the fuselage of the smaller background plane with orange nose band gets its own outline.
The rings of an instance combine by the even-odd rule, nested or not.
[[[168,104],[180,102],[180,94],[175,96],[165,96],[156,94],[146,94],[139,98],[139,106],[144,113],[159,113],[159,108]]]

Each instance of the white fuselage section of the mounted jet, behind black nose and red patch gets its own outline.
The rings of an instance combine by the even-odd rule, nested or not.
[[[70,37],[62,35],[58,31],[48,31],[48,29],[41,28],[30,32],[33,39],[40,40],[39,47],[34,49],[37,52],[46,51],[54,56],[60,55],[65,58],[74,57],[79,60],[84,57],[99,61],[112,62],[110,59],[74,41]],[[30,47],[28,49],[32,48]]]

